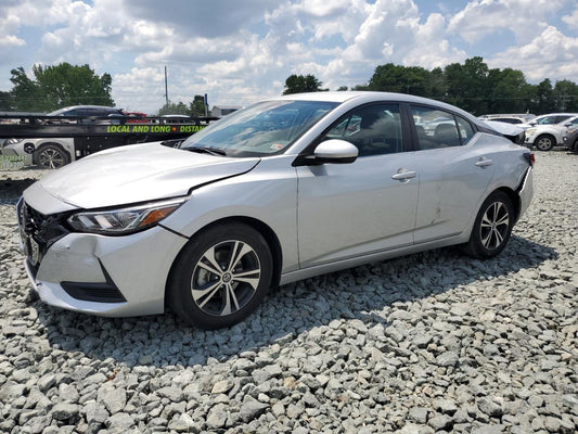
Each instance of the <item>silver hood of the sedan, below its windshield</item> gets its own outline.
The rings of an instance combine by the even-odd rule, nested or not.
[[[64,166],[27,189],[24,200],[50,214],[182,196],[194,187],[247,173],[259,161],[198,154],[159,143],[133,144]],[[57,202],[66,205],[57,206]]]

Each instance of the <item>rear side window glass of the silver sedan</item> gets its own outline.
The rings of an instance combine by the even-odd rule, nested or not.
[[[475,133],[466,119],[442,110],[412,105],[411,113],[419,150],[461,146]]]

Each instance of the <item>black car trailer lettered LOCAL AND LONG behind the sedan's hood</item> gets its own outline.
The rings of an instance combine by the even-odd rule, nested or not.
[[[59,168],[111,148],[144,142],[178,146],[219,117],[47,116],[0,113],[0,168]],[[16,146],[15,143],[18,143]]]

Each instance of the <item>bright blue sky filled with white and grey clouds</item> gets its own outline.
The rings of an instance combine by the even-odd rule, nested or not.
[[[578,82],[576,0],[0,0],[0,90],[11,69],[88,64],[116,106],[156,114],[279,95],[292,74],[364,85],[378,65],[427,69],[481,56],[528,82]]]

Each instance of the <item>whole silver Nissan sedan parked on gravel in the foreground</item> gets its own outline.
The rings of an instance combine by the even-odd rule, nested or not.
[[[271,286],[460,244],[491,258],[532,196],[532,155],[454,106],[318,92],[235,112],[179,149],[103,151],[18,204],[41,299],[101,315],[243,320]]]

